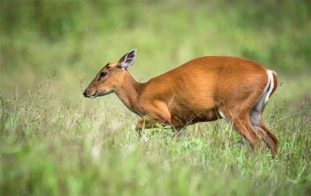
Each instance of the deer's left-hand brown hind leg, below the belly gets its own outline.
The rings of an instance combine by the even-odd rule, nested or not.
[[[229,110],[223,109],[219,111],[219,114],[227,121],[233,124],[234,130],[236,130],[242,137],[244,137],[251,148],[254,150],[260,145],[262,137],[251,125],[249,120],[249,112],[241,112],[238,116],[233,116]]]

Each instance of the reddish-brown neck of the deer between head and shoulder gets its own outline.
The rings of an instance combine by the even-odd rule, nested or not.
[[[120,81],[114,92],[130,111],[141,115],[138,112],[138,96],[144,83],[136,82],[128,71],[125,71],[123,80]]]

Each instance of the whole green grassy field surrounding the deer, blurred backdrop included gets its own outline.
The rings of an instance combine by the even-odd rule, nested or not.
[[[0,1],[0,195],[311,195],[310,1]],[[115,95],[82,91],[137,48],[147,81],[193,58],[278,74],[272,156],[224,120],[135,132]],[[224,76],[225,77],[225,76]]]

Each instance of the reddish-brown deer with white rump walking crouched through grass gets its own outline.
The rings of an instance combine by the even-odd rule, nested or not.
[[[137,49],[132,49],[118,63],[107,63],[86,87],[84,97],[115,93],[140,116],[139,135],[156,124],[178,132],[194,123],[223,118],[252,150],[263,140],[277,154],[279,139],[263,118],[277,88],[276,72],[241,57],[205,56],[140,83],[127,70],[136,55]]]

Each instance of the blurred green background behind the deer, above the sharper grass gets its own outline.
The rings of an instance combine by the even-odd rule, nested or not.
[[[0,87],[28,94],[35,81],[54,77],[76,98],[107,62],[137,48],[129,71],[138,81],[196,57],[241,56],[275,70],[285,85],[279,99],[299,105],[310,100],[310,7],[308,0],[1,0]]]

